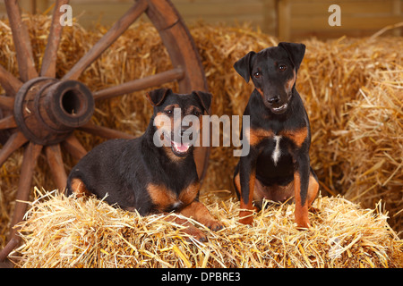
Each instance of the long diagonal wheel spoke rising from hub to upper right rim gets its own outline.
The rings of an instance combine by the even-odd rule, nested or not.
[[[119,36],[122,35],[124,31],[141,16],[142,13],[144,13],[144,11],[147,9],[147,5],[146,0],[137,1],[132,8],[124,13],[122,18],[116,21],[112,28],[109,29],[94,46],[92,46],[90,51],[88,51],[88,53],[84,55],[80,61],[74,64],[73,68],[64,75],[63,80],[77,80],[82,71],[84,71],[96,59],[98,59],[99,55],[101,55],[108,46],[112,45],[116,41],[116,38],[119,38]]]

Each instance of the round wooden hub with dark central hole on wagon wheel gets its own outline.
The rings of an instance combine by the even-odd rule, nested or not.
[[[21,132],[45,146],[64,141],[74,129],[89,122],[93,113],[90,89],[77,80],[29,80],[14,102],[14,118]]]

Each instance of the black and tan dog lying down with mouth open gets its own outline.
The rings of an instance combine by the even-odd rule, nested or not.
[[[213,231],[220,230],[222,224],[199,202],[194,147],[186,130],[192,127],[200,132],[200,126],[182,126],[184,116],[201,119],[208,112],[210,93],[193,91],[180,95],[160,88],[147,96],[154,114],[145,133],[137,139],[112,139],[94,147],[73,167],[67,179],[67,194],[94,194],[98,198],[107,195],[108,204],[135,209],[141,215],[175,211],[193,217]],[[174,120],[174,114],[180,117]],[[168,122],[156,123],[161,116]],[[206,240],[190,224],[186,232]]]

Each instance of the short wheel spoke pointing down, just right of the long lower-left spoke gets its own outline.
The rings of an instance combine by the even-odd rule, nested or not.
[[[47,164],[50,167],[50,172],[52,173],[56,187],[60,192],[63,192],[65,189],[65,182],[67,181],[67,174],[64,170],[60,145],[56,144],[45,147],[45,154],[47,155]]]

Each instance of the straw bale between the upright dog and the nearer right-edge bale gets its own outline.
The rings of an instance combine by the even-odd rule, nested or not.
[[[359,89],[372,88],[370,79],[376,71],[402,65],[403,38],[343,37],[325,42],[313,38],[304,44],[307,50],[296,82],[311,121],[313,169],[331,194],[344,193],[348,171],[343,169],[346,157],[339,155],[345,134],[338,131],[347,126],[350,103],[362,98]]]

